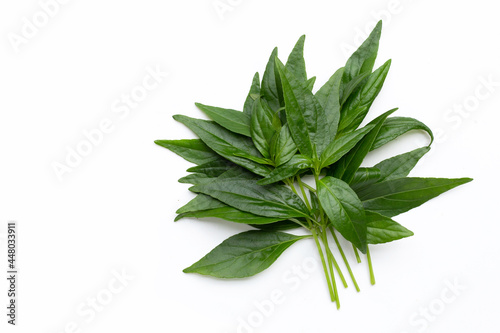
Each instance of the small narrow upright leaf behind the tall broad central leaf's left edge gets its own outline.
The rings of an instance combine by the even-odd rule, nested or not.
[[[283,91],[281,90],[281,82],[279,81],[280,77],[275,69],[275,59],[277,56],[278,48],[274,48],[262,77],[261,88],[262,97],[275,112],[281,108],[281,103],[283,101]]]

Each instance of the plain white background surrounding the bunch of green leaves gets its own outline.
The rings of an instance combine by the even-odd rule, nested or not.
[[[2,267],[7,221],[18,221],[20,233],[18,326],[5,323],[2,279],[1,331],[221,333],[238,332],[250,317],[253,326],[239,332],[496,332],[496,3],[219,3],[231,10],[218,13],[214,0],[67,1],[18,52],[13,36],[22,36],[24,18],[33,22],[42,9],[35,0],[0,4]],[[377,65],[393,63],[368,118],[397,106],[397,115],[434,130],[432,151],[412,175],[474,182],[396,218],[415,236],[373,247],[375,286],[366,260],[354,264],[348,251],[362,290],[340,288],[340,311],[329,301],[319,266],[302,278],[294,273],[317,262],[310,240],[253,278],[182,273],[247,228],[215,220],[173,223],[175,210],[192,197],[177,183],[190,165],[153,141],[193,134],[172,115],[203,117],[194,102],[241,109],[272,48],[285,60],[301,34],[307,35],[308,74],[318,77],[319,87],[345,63],[344,49],[357,45],[379,18]],[[157,67],[168,77],[128,114],[113,112],[122,94],[141,85],[147,68]],[[65,163],[68,149],[85,140],[83,132],[104,119],[111,133],[59,180],[54,163]],[[427,142],[423,133],[406,135],[367,165]],[[133,279],[121,286],[114,274],[122,271]],[[460,288],[453,293],[450,283]],[[110,293],[109,284],[120,291]],[[259,313],[255,302],[267,304],[274,290],[283,302]],[[106,304],[93,316],[88,302],[97,296]],[[424,319],[419,313],[429,307],[432,319]]]

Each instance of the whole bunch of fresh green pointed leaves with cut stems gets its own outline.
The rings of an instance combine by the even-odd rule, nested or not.
[[[211,120],[174,116],[199,137],[156,141],[196,165],[179,181],[192,184],[197,195],[177,211],[176,221],[215,217],[255,228],[228,238],[184,272],[252,276],[298,240],[313,238],[339,307],[335,275],[344,287],[347,282],[329,240],[359,291],[338,234],[352,243],[358,262],[358,251],[366,254],[373,284],[369,246],[413,235],[392,218],[471,181],[408,177],[433,134],[416,119],[393,117],[396,109],[360,127],[391,65],[373,70],[380,33],[381,22],[315,92],[302,36],[286,63],[273,50],[262,80],[259,73],[253,77],[243,111],[196,103]],[[429,146],[361,167],[371,151],[411,130],[426,131]],[[297,227],[308,235],[283,232]]]

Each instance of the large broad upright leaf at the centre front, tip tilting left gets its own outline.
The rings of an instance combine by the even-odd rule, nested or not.
[[[276,66],[283,85],[286,118],[293,140],[303,155],[317,158],[332,138],[325,111],[305,83],[297,80],[279,59],[276,59]]]

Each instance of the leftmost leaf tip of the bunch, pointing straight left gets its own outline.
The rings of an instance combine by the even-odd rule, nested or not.
[[[204,164],[220,158],[219,155],[200,139],[156,140],[155,143],[158,146],[171,150],[186,161],[194,164]]]

